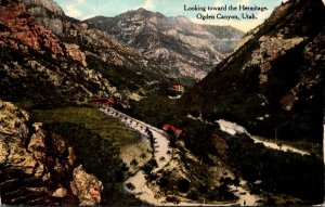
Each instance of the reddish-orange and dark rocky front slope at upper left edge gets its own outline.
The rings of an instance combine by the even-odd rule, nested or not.
[[[87,67],[79,46],[64,44],[52,29],[38,24],[21,1],[0,4],[0,86],[6,89],[0,91],[2,99],[26,98],[57,105],[84,102],[98,91],[112,92],[108,80]],[[46,94],[48,91],[52,95]]]

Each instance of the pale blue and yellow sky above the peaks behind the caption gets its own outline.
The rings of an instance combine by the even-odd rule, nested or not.
[[[186,16],[192,22],[209,25],[231,25],[243,31],[248,31],[268,18],[275,7],[286,0],[55,0],[65,14],[78,20],[93,16],[116,16],[120,13],[144,8],[166,16]],[[226,7],[226,11],[193,11],[196,8]],[[229,7],[237,7],[230,11]],[[238,11],[238,5],[268,8],[265,11]],[[220,14],[219,14],[220,13]],[[253,14],[253,20],[243,20],[242,13]],[[219,14],[219,15],[218,15]],[[214,20],[203,20],[202,16],[213,16]],[[238,15],[239,20],[217,18]]]

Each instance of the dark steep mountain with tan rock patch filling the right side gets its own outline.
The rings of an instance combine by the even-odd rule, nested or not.
[[[282,3],[181,103],[260,135],[322,143],[324,13],[321,0]]]

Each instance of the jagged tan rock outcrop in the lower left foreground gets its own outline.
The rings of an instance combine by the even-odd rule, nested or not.
[[[102,182],[63,139],[10,102],[0,106],[0,193],[5,205],[96,205]]]

